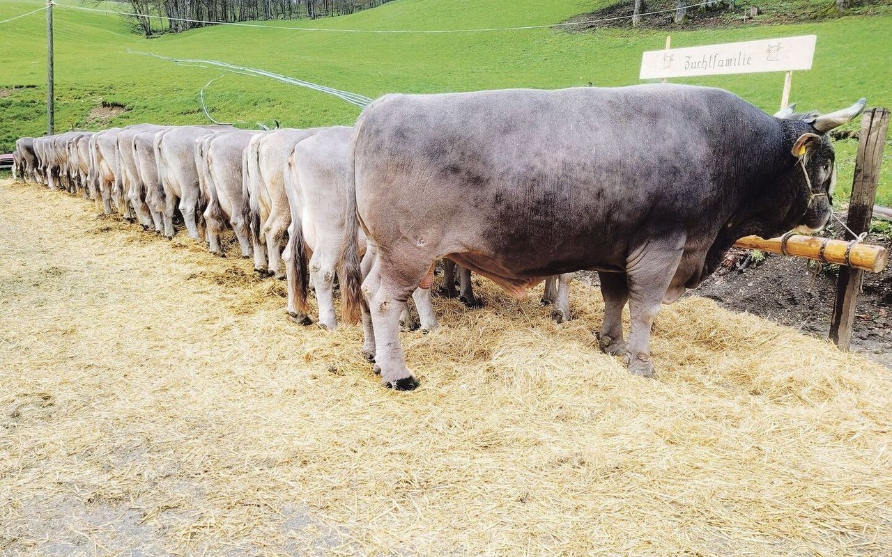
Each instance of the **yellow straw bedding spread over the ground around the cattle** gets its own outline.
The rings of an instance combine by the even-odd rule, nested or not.
[[[654,380],[478,284],[403,334],[285,319],[284,284],[0,184],[0,550],[8,554],[879,555],[892,375],[706,299],[657,317]]]

